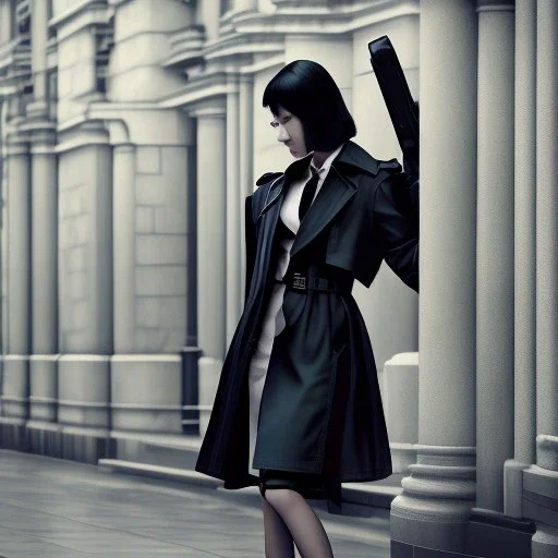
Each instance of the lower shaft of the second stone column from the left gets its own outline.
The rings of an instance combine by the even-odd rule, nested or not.
[[[58,184],[52,133],[34,134],[32,184],[31,418],[52,423],[58,398]]]

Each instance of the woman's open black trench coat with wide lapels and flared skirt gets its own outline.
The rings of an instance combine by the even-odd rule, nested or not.
[[[246,199],[246,300],[227,353],[196,471],[225,488],[254,485],[248,474],[251,356],[275,272],[283,194],[310,155],[268,173]],[[415,185],[416,186],[416,185]],[[396,160],[377,161],[348,142],[301,222],[289,270],[356,279],[369,287],[381,260],[418,291],[417,208]],[[286,328],[274,341],[259,410],[255,469],[317,473],[338,483],[391,474],[376,365],[350,294],[287,290]]]

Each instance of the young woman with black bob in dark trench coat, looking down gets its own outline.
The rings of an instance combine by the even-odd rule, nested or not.
[[[381,260],[418,290],[417,216],[396,160],[351,141],[341,93],[298,60],[267,85],[277,140],[296,160],[246,199],[246,296],[196,471],[259,486],[268,558],[332,556],[306,499],[391,474],[376,366],[351,295]]]

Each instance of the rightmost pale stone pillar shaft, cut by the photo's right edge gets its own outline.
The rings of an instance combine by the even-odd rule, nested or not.
[[[558,3],[555,0],[539,0],[537,5],[536,75],[536,432],[558,436]],[[537,463],[541,457],[537,451]],[[555,462],[558,471],[558,454]]]

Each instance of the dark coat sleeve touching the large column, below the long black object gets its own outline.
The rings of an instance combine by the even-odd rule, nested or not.
[[[374,193],[374,238],[386,264],[418,292],[418,183],[389,175]],[[416,196],[416,197],[415,197]]]

